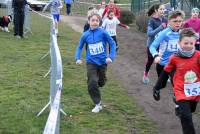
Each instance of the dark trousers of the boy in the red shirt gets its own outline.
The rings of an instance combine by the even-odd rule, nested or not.
[[[195,129],[192,121],[192,113],[195,112],[197,101],[181,100],[177,101],[177,116],[181,120],[183,134],[195,134]]]

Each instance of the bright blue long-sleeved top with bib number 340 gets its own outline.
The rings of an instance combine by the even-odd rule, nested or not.
[[[107,43],[110,46],[110,54],[107,56]],[[110,35],[101,28],[89,29],[81,36],[79,45],[76,49],[76,60],[80,60],[84,45],[87,44],[86,62],[97,65],[106,64],[106,58],[113,61],[116,55],[116,44]]]

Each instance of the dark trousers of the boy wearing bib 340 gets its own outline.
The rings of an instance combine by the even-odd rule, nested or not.
[[[98,104],[101,101],[101,93],[99,87],[103,87],[106,83],[106,71],[107,65],[95,65],[87,63],[87,84],[88,93],[94,104]]]

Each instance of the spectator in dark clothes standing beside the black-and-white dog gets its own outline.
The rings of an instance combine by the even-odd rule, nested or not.
[[[12,8],[14,12],[14,36],[21,39],[23,38],[23,25],[24,25],[24,10],[25,5],[28,4],[26,0],[13,0]]]

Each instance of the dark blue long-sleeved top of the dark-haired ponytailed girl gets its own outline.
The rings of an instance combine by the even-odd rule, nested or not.
[[[167,19],[165,17],[153,18],[151,17],[148,21],[147,27],[147,46],[150,47],[151,43],[154,41],[155,36],[162,31],[164,28],[161,25],[162,23],[167,24]]]

